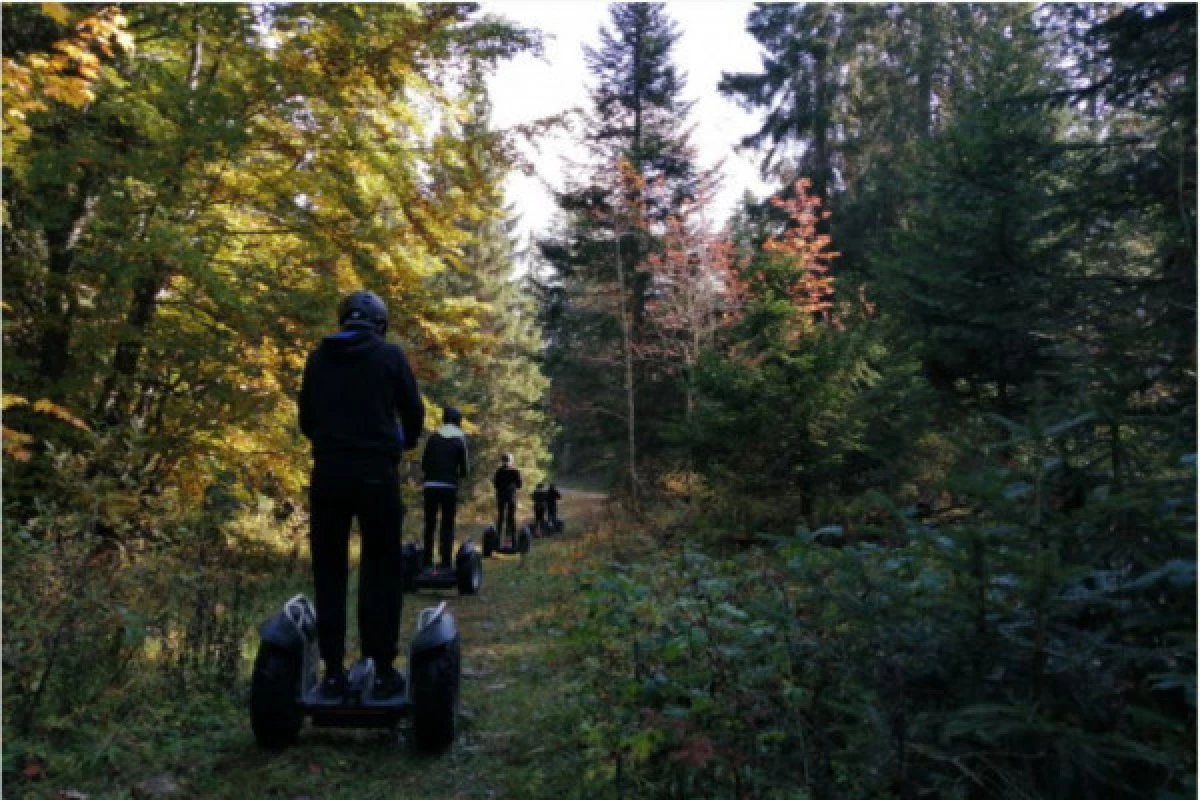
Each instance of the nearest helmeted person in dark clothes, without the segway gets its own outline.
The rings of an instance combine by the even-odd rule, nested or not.
[[[346,589],[350,523],[362,536],[359,638],[376,663],[376,694],[398,692],[392,661],[400,637],[395,579],[404,506],[397,463],[416,446],[425,405],[403,351],[384,339],[388,307],[371,291],[338,305],[341,330],[308,355],[300,384],[300,429],[312,441],[308,489],[317,637],[325,662],[322,694],[341,697],[347,680]],[[397,416],[400,422],[397,425]]]

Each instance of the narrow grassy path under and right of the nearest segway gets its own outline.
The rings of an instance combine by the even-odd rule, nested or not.
[[[536,796],[547,786],[569,786],[572,759],[562,744],[574,723],[564,702],[569,676],[554,663],[563,638],[554,609],[572,601],[575,582],[564,565],[584,554],[586,531],[605,517],[605,500],[599,493],[564,491],[566,534],[536,540],[523,559],[486,561],[479,596],[406,596],[402,648],[425,606],[446,600],[458,620],[462,716],[450,752],[424,758],[378,732],[306,729],[298,745],[266,753],[256,747],[241,715],[235,730],[215,736],[210,752],[175,772],[184,794],[445,800]],[[481,529],[475,521],[461,530],[478,541]]]

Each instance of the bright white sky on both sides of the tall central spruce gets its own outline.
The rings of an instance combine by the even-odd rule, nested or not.
[[[491,76],[493,125],[512,125],[590,106],[592,76],[583,62],[583,46],[598,47],[601,25],[610,25],[608,5],[594,0],[484,0],[482,10],[545,34],[545,54],[522,54]],[[709,167],[724,160],[724,186],[716,198],[715,223],[724,222],[742,194],[750,190],[766,194],[758,178],[757,156],[734,152],[743,136],[757,128],[755,116],[740,110],[716,91],[722,71],[750,72],[761,67],[758,44],[745,32],[750,2],[731,0],[677,0],[667,4],[668,16],[682,31],[672,49],[676,68],[686,77],[684,98],[695,101],[689,121],[700,163]],[[562,158],[577,140],[566,133],[547,137],[534,158],[536,176],[514,174],[505,184],[509,201],[521,217],[517,234],[522,245],[530,234],[542,234],[556,215],[546,188],[563,185]]]

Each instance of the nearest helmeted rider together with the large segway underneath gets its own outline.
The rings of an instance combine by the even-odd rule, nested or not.
[[[458,627],[444,602],[418,613],[407,673],[392,663],[404,513],[397,463],[416,445],[425,407],[404,354],[384,341],[388,308],[379,297],[355,291],[338,306],[337,321],[341,331],[326,336],[305,363],[299,402],[300,429],[313,451],[308,541],[319,614],[296,595],[259,627],[251,728],[259,745],[277,748],[295,741],[305,718],[316,727],[394,729],[409,717],[413,744],[442,752],[455,738],[462,678]],[[354,518],[362,537],[364,657],[347,674],[347,551]]]

